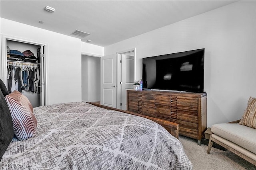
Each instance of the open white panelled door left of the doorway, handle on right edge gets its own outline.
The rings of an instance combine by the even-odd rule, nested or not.
[[[101,57],[100,104],[116,108],[116,55]]]

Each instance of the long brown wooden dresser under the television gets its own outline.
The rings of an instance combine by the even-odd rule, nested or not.
[[[206,93],[127,90],[127,111],[179,124],[179,134],[198,140],[207,128]]]

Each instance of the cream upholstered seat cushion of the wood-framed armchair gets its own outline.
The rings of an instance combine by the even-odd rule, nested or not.
[[[256,154],[256,129],[239,123],[219,123],[212,125],[211,131]]]

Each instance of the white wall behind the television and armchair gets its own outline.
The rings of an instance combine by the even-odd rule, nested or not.
[[[256,97],[255,6],[255,1],[238,1],[109,45],[104,55],[136,47],[138,80],[144,57],[205,48],[207,126],[234,121],[242,117],[248,98]]]

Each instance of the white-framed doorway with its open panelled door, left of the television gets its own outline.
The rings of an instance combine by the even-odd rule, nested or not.
[[[126,91],[133,89],[136,49],[101,57],[100,104],[126,110]]]

